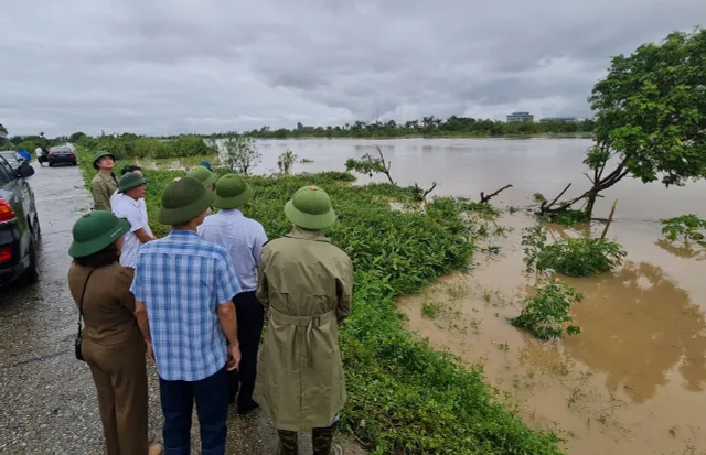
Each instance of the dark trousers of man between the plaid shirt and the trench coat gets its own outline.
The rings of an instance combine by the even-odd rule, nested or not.
[[[240,344],[240,366],[229,371],[229,402],[238,396],[238,412],[247,412],[257,407],[253,400],[257,376],[257,351],[263,334],[265,315],[263,305],[255,297],[255,291],[237,294],[233,302],[238,319],[238,343]],[[239,391],[239,393],[238,393]]]

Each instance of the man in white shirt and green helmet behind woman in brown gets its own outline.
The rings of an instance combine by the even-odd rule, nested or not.
[[[142,209],[140,204],[140,199],[145,199],[146,184],[147,180],[143,176],[135,172],[128,172],[120,177],[118,193],[121,197],[114,199],[115,204],[113,204],[113,201],[110,202],[115,216],[126,218],[130,224],[130,230],[122,236],[120,264],[132,269],[137,264],[137,253],[140,246],[154,240],[150,225],[147,221],[147,212]]]

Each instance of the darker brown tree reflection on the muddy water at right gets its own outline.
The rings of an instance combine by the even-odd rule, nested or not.
[[[628,261],[619,272],[567,282],[584,293],[584,302],[574,306],[584,331],[565,339],[565,353],[607,373],[608,389],[623,388],[643,402],[681,362],[684,387],[704,390],[704,315],[660,267]]]

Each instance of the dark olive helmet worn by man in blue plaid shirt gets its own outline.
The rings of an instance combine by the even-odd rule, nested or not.
[[[182,225],[206,212],[216,195],[196,178],[178,177],[162,191],[162,207],[157,217],[162,225]]]

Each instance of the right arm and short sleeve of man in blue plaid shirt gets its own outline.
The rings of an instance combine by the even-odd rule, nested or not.
[[[238,319],[233,296],[240,292],[235,267],[231,257],[224,251],[223,258],[216,261],[215,289],[218,303],[218,322],[223,334],[228,339],[228,362],[226,370],[232,371],[240,364],[240,344],[238,343]]]

